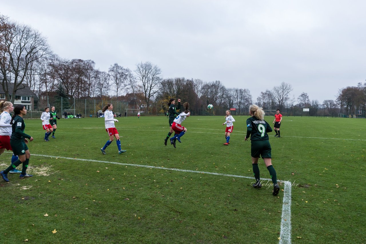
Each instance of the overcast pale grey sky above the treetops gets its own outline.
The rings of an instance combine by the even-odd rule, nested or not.
[[[322,103],[365,82],[366,1],[0,0],[0,14],[68,59],[108,71],[150,61],[164,78],[261,91],[290,83]]]

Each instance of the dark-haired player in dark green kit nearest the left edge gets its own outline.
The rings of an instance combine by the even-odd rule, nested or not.
[[[1,177],[5,181],[9,181],[8,173],[10,170],[15,169],[18,165],[23,164],[22,173],[19,178],[32,177],[33,175],[27,174],[26,170],[29,165],[30,153],[27,147],[28,140],[32,141],[33,137],[24,133],[25,123],[23,116],[27,114],[27,109],[24,105],[17,105],[14,109],[14,115],[11,117],[10,124],[12,125],[12,133],[10,137],[10,145],[14,155],[19,155],[19,159],[16,160],[7,169],[0,172]]]

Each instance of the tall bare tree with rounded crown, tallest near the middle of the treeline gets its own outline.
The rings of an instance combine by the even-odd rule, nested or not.
[[[142,92],[145,94],[146,106],[149,108],[150,100],[161,89],[161,69],[147,61],[137,64],[135,73],[142,83]]]

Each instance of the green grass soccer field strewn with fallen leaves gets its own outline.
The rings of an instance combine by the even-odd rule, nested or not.
[[[366,243],[365,120],[284,117],[281,138],[269,134],[277,178],[292,184],[284,219],[286,192],[243,178],[253,176],[247,116],[234,118],[229,146],[224,116],[191,116],[175,149],[166,117],[122,117],[120,155],[115,141],[100,151],[102,118],[61,119],[50,142],[26,120],[34,177],[0,179],[1,243],[278,243],[281,231],[291,243]]]

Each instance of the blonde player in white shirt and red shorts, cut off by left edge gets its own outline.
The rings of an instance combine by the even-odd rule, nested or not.
[[[11,128],[11,115],[10,112],[13,112],[14,106],[11,102],[8,101],[0,101],[0,154],[2,154],[5,149],[12,150],[10,145],[10,136],[12,132]],[[18,156],[14,155],[11,158],[11,162],[15,162],[18,159]],[[21,173],[22,171],[18,169],[12,169],[9,173]]]

